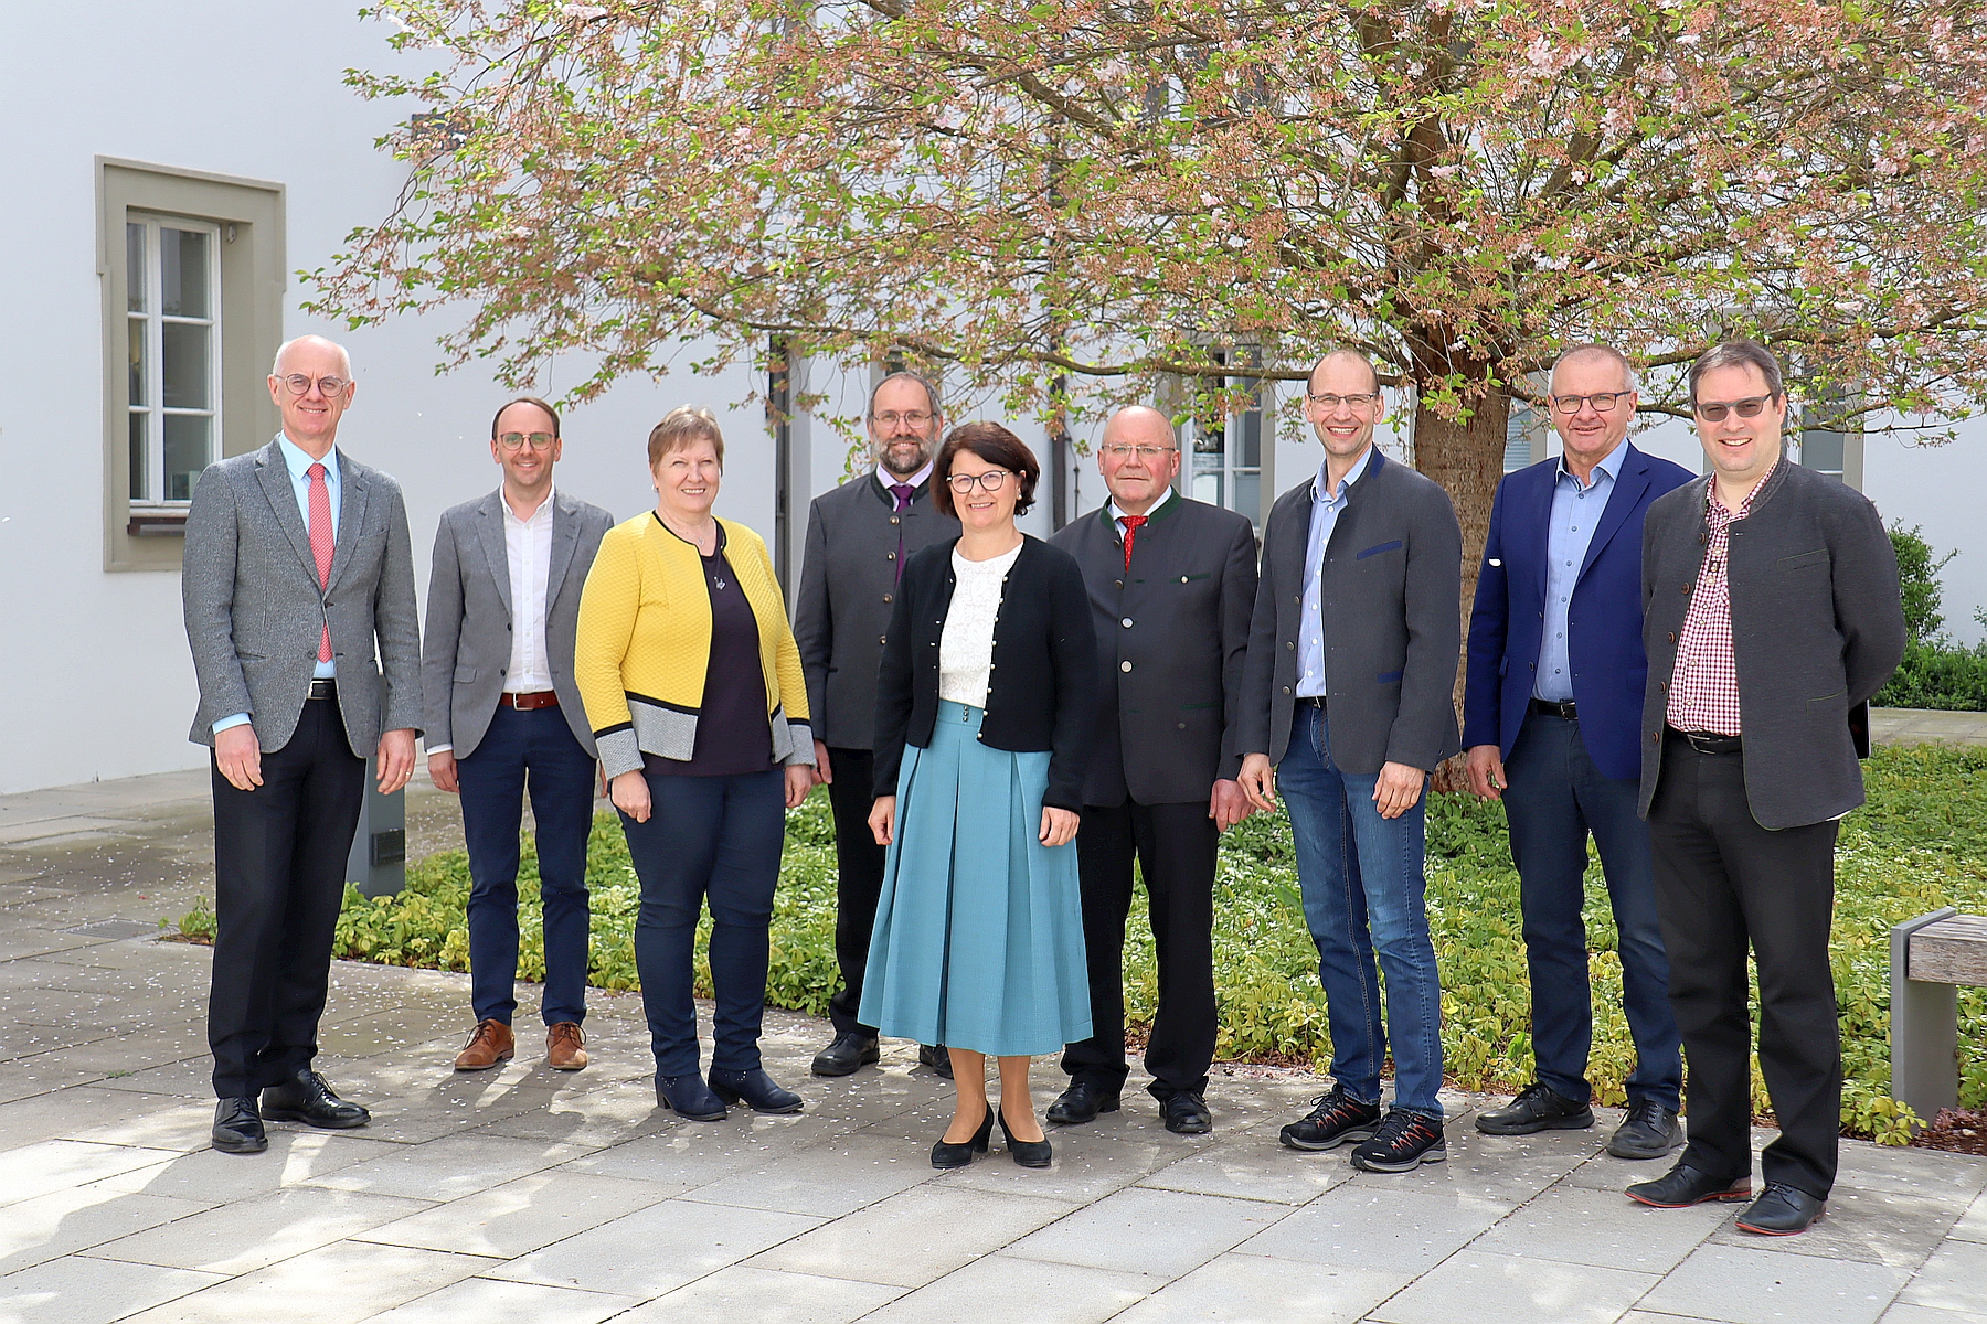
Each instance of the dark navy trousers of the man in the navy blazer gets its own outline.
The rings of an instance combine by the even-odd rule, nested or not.
[[[1594,991],[1588,981],[1588,834],[1602,856],[1621,955],[1621,1002],[1635,1040],[1631,1100],[1679,1108],[1683,1058],[1669,1008],[1669,957],[1655,917],[1649,826],[1637,814],[1639,782],[1602,776],[1580,723],[1532,713],[1504,762],[1504,814],[1518,863],[1524,955],[1532,971],[1532,1056],[1538,1078],[1588,1102]]]

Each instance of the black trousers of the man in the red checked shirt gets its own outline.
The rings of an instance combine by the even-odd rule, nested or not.
[[[1760,1167],[1766,1181],[1826,1199],[1842,1129],[1842,1040],[1828,969],[1836,824],[1766,832],[1747,808],[1745,754],[1699,754],[1669,734],[1649,838],[1669,1000],[1691,1064],[1683,1161],[1713,1177],[1753,1171],[1751,947],[1758,1066],[1780,1122]]]

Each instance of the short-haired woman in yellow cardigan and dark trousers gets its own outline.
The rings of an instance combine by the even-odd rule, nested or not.
[[[799,1112],[759,1066],[785,810],[813,784],[801,653],[765,542],[711,516],[725,441],[707,409],[648,435],[656,510],[608,530],[586,576],[574,675],[642,879],[634,961],[656,1104],[697,1122],[743,1100]],[[717,993],[697,1074],[691,945],[711,905]]]

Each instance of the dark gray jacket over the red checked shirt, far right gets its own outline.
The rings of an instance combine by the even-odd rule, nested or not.
[[[1663,772],[1677,633],[1705,564],[1711,478],[1649,504],[1641,526],[1641,814]],[[1868,703],[1904,657],[1898,556],[1862,492],[1786,459],[1729,530],[1733,661],[1753,820],[1776,832],[1864,802],[1850,709]]]

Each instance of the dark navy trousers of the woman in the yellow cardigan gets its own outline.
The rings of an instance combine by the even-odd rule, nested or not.
[[[650,814],[622,814],[628,856],[642,879],[634,965],[658,1076],[697,1070],[691,955],[703,901],[711,905],[711,985],[717,994],[711,1066],[759,1066],[765,1020],[767,927],[779,848],[787,840],[787,774],[648,778]]]

